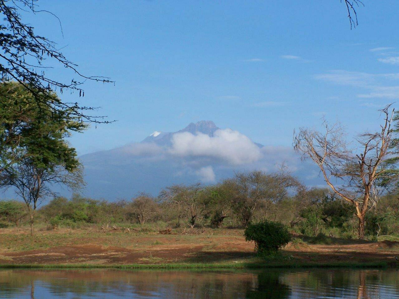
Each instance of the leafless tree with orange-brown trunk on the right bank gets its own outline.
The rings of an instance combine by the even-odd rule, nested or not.
[[[380,111],[384,115],[381,130],[359,134],[354,148],[350,148],[351,143],[346,141],[339,123],[330,125],[324,120],[323,133],[306,128],[294,133],[296,152],[301,153],[302,158],[312,159],[332,191],[354,205],[360,239],[364,238],[365,215],[371,207],[374,184],[390,181],[397,173],[392,169],[395,163],[388,163],[394,110],[389,105]]]

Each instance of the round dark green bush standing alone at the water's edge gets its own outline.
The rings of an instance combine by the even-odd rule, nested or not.
[[[255,242],[255,251],[259,256],[273,254],[291,240],[291,235],[284,224],[269,220],[249,223],[244,236],[246,241]]]

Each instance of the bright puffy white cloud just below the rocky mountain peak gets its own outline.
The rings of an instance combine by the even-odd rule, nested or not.
[[[252,163],[262,157],[256,144],[247,136],[231,129],[217,130],[213,137],[202,133],[176,133],[172,137],[172,148],[169,152],[178,156],[214,157],[234,165]]]

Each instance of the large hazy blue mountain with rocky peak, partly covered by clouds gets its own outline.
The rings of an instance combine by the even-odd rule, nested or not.
[[[306,183],[320,183],[317,169],[301,163],[292,148],[263,146],[238,131],[204,120],[79,158],[87,182],[82,193],[97,199],[130,199],[138,192],[158,195],[170,185],[215,183],[237,171],[276,171],[282,163]]]

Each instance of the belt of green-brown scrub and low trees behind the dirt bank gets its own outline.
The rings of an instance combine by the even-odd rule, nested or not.
[[[107,230],[167,228],[244,228],[249,222],[273,220],[292,234],[310,237],[357,238],[357,218],[350,203],[328,189],[306,189],[284,173],[259,171],[211,186],[172,186],[158,197],[140,194],[109,202],[74,194],[54,197],[39,206],[35,225],[43,230],[97,226]],[[399,237],[399,195],[382,196],[367,214],[366,239]],[[30,224],[25,203],[0,201],[0,227]]]

